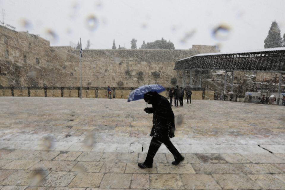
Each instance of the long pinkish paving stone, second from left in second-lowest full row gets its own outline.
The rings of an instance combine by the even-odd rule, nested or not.
[[[51,170],[51,171],[70,171],[77,162],[71,161],[51,161],[51,160],[42,160],[35,164],[30,170],[37,170],[41,168],[42,170]]]

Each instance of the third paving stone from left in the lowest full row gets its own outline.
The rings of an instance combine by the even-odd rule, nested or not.
[[[69,187],[99,187],[103,173],[81,172],[76,175]]]

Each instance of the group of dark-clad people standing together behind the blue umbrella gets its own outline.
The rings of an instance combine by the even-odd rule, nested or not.
[[[186,91],[186,95],[187,95],[187,104],[189,104],[189,102],[191,103],[191,90],[187,89]],[[168,92],[169,98],[170,98],[170,106],[172,106],[172,98],[174,97],[174,106],[178,107],[178,100],[179,100],[179,104],[180,106],[183,106],[183,99],[184,99],[184,89],[183,87],[180,87],[177,85],[176,88],[173,90],[172,88],[169,90]],[[188,101],[189,100],[189,101]]]

